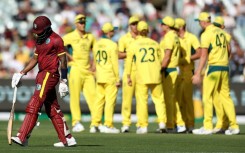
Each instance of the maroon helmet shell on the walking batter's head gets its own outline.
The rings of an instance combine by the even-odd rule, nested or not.
[[[45,29],[51,26],[51,21],[46,16],[38,16],[33,21],[32,32],[35,34],[41,34]]]

